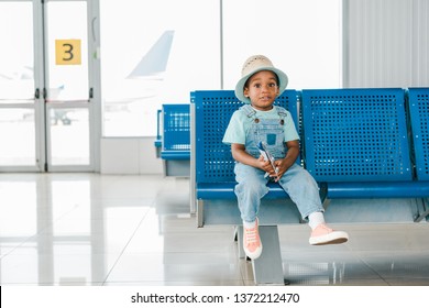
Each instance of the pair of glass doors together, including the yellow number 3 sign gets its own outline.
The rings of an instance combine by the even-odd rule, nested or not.
[[[87,2],[0,0],[0,170],[95,169]]]

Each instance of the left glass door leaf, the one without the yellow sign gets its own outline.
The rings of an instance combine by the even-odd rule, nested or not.
[[[0,1],[0,169],[41,168],[32,1]]]

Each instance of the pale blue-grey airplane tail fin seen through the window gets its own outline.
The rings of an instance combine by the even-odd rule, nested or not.
[[[127,78],[158,77],[167,67],[174,31],[165,31]]]

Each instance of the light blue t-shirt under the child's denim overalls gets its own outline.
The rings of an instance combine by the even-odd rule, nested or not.
[[[279,119],[276,108],[273,108],[270,111],[256,110],[255,117],[257,119]],[[299,140],[299,135],[295,129],[294,120],[292,119],[290,112],[287,112],[287,117],[284,119],[285,123],[284,131],[285,136],[284,141]],[[228,124],[228,128],[224,132],[222,142],[226,144],[238,143],[245,144],[245,136],[252,125],[252,121],[249,119],[248,114],[243,110],[237,110],[231,117],[231,120]]]

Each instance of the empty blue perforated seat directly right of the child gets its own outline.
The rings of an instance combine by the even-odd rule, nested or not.
[[[409,135],[417,121],[407,118],[404,89],[302,90],[301,96],[306,167],[326,184],[327,205],[331,199],[429,197],[429,182],[415,174],[419,153]],[[402,221],[420,221],[428,215],[425,202],[407,216],[400,206],[385,210],[398,211]]]

